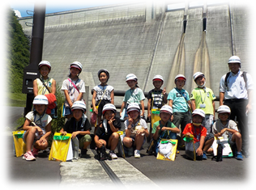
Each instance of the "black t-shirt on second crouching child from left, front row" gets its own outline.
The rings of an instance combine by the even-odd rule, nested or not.
[[[77,122],[74,117],[71,117],[69,120],[66,121],[66,124],[64,125],[63,129],[64,131],[66,131],[66,133],[73,133],[75,131],[90,131],[92,129],[88,119],[85,119],[83,125],[82,122],[83,119]],[[77,137],[80,138],[83,137],[83,135],[79,134]]]

